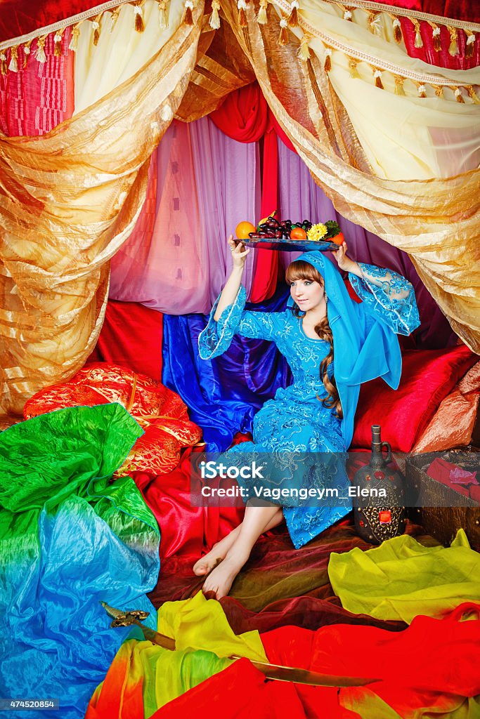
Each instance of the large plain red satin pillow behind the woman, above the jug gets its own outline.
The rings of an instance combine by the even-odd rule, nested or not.
[[[410,452],[440,402],[478,361],[464,344],[450,349],[412,349],[403,354],[398,390],[384,380],[362,385],[352,448],[371,444],[371,425],[381,425],[381,439],[397,452]]]

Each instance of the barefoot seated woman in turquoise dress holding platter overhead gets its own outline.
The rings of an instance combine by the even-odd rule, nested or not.
[[[199,336],[202,359],[225,352],[234,334],[275,342],[294,382],[279,388],[255,415],[253,442],[237,452],[345,452],[362,382],[383,377],[396,389],[402,359],[397,334],[420,324],[412,285],[397,273],[351,260],[344,242],[335,260],[361,298],[348,295],[343,278],[320,252],[306,252],[286,270],[284,312],[244,311],[243,268],[249,249],[228,239],[233,269]],[[233,459],[233,457],[232,457]],[[243,522],[194,565],[207,575],[203,590],[217,599],[230,591],[258,537],[286,520],[296,548],[350,510],[350,506],[252,506]]]

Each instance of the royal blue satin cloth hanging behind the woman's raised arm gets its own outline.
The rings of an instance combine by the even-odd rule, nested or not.
[[[288,297],[283,285],[271,300],[246,309],[281,311]],[[200,359],[198,339],[207,320],[199,314],[163,317],[162,382],[184,400],[208,451],[222,452],[236,432],[251,431],[255,413],[291,383],[291,372],[273,342],[242,336],[234,337],[222,357]]]

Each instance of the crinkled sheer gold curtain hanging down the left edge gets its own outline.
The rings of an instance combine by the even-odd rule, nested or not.
[[[202,16],[199,1],[193,26],[179,24],[142,70],[52,132],[0,137],[0,413],[21,413],[94,348],[108,260],[140,213],[150,154],[196,63]]]

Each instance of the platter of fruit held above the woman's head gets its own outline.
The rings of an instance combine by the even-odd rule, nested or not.
[[[236,234],[236,242],[243,242],[247,247],[283,252],[335,251],[345,239],[332,220],[325,224],[312,224],[309,220],[293,223],[277,219],[275,212],[261,220],[256,228],[250,222],[240,222]]]

